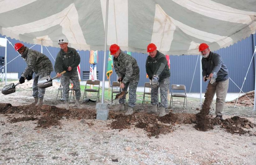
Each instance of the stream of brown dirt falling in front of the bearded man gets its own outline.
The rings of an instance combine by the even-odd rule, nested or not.
[[[195,125],[195,128],[200,131],[208,131],[210,128],[212,128],[210,126],[211,120],[208,114],[210,113],[214,93],[215,92],[213,91],[213,85],[208,83],[202,109],[200,110],[199,113],[196,114],[197,124]]]

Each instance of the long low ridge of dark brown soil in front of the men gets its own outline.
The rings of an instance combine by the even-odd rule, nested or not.
[[[204,103],[202,109],[208,104]],[[207,109],[208,108],[208,109]],[[201,110],[202,111],[202,110]],[[201,113],[201,112],[200,112]],[[209,113],[209,107],[206,107],[206,111],[202,114],[206,115]],[[37,128],[49,128],[51,126],[60,125],[60,120],[62,118],[67,119],[95,119],[96,112],[92,109],[61,109],[50,105],[23,105],[23,106],[12,106],[11,104],[0,104],[0,114],[22,114],[26,117],[12,118],[11,123],[28,121],[28,120],[38,120]],[[38,117],[35,117],[38,116]],[[187,113],[169,113],[163,117],[158,117],[155,114],[146,114],[144,110],[135,112],[132,115],[125,116],[120,114],[120,112],[109,112],[109,119],[113,120],[110,124],[111,129],[130,129],[133,126],[137,128],[144,129],[148,132],[148,136],[159,137],[159,134],[167,134],[174,131],[176,124],[192,124],[197,123],[198,127],[198,114],[187,114]],[[199,117],[202,117],[200,114]],[[203,128],[207,126],[207,129],[213,129],[214,125],[219,125],[224,128],[227,132],[236,134],[250,134],[249,131],[244,130],[254,128],[256,125],[249,122],[245,118],[240,118],[234,116],[232,118],[227,118],[225,120],[211,119],[207,117],[208,125],[201,125]],[[205,119],[205,118],[202,118]]]

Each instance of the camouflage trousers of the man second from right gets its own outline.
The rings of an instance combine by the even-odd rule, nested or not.
[[[161,98],[160,106],[167,108],[169,86],[170,86],[170,77],[164,78],[163,80],[159,81],[158,87],[153,87],[151,85],[151,104],[153,105],[158,104],[158,88],[160,87],[160,98]]]

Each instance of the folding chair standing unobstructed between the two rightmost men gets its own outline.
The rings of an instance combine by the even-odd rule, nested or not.
[[[173,94],[173,90],[183,90],[185,93],[178,93],[178,94]],[[180,101],[173,101],[173,97],[184,97],[184,102],[180,102]],[[186,100],[186,107],[187,107],[187,93],[186,93],[186,87],[185,85],[178,85],[178,84],[172,84],[172,89],[171,89],[171,101],[170,101],[170,106],[172,104],[172,108],[173,108],[173,104],[183,104],[183,108],[185,106],[185,100]]]

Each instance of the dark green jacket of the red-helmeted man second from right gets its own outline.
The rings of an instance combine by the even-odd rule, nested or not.
[[[153,75],[158,75],[159,81],[170,77],[170,69],[165,55],[157,51],[154,58],[148,56],[146,60],[146,72],[150,80],[152,80]]]

